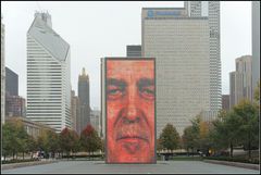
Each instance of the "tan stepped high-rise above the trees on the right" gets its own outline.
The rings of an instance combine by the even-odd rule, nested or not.
[[[231,108],[243,99],[252,101],[252,58],[236,59],[236,72],[231,73]]]

